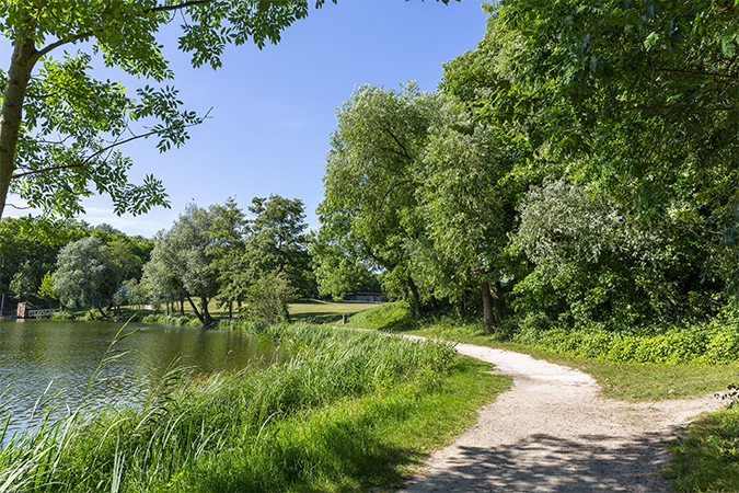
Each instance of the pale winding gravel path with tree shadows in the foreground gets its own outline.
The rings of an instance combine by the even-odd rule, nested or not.
[[[504,349],[457,349],[494,364],[513,386],[403,492],[666,492],[666,440],[691,417],[721,406],[713,397],[615,401],[571,368]]]

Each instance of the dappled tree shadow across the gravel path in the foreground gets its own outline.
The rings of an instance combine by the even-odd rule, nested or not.
[[[655,471],[665,435],[582,435],[576,440],[530,435],[515,444],[460,447],[443,471],[415,478],[407,492],[667,492]]]

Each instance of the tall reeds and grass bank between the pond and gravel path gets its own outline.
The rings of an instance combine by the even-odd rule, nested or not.
[[[77,413],[15,437],[0,452],[3,491],[388,491],[509,385],[444,344],[246,329],[293,358],[172,377],[141,409]]]

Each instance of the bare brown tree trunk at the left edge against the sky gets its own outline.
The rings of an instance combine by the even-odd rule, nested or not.
[[[13,47],[0,108],[0,217],[5,209],[10,181],[15,171],[15,148],[23,122],[23,102],[31,71],[37,60],[36,55],[33,39],[19,36]]]

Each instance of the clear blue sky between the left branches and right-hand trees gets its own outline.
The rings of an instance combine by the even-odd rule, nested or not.
[[[117,217],[109,199],[95,197],[84,202],[80,219],[151,237],[190,202],[207,207],[233,196],[246,209],[252,197],[279,194],[302,199],[309,226],[317,228],[336,108],[361,84],[396,89],[415,80],[435,91],[441,64],[474,49],[485,22],[481,0],[338,0],[311,10],[278,45],[230,46],[215,71],[192,68],[186,55],[165,45],[185,107],[212,108],[211,118],[180,149],[159,153],[155,141],[146,140],[122,150],[135,161],[132,181],[162,180],[172,208]],[[7,43],[0,51],[4,65]]]

